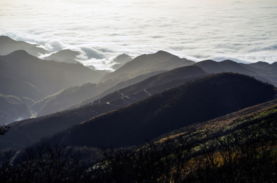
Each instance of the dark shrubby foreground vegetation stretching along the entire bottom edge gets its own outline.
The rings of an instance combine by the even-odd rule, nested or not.
[[[102,156],[58,144],[2,151],[0,176],[3,182],[275,182],[276,128],[275,100],[145,146],[103,148]]]

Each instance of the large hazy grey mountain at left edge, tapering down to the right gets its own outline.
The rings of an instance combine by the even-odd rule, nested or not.
[[[24,50],[0,56],[0,65],[3,94],[14,94],[34,101],[70,86],[95,82],[101,76],[81,64],[42,60]]]

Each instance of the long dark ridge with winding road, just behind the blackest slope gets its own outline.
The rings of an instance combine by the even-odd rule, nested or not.
[[[162,76],[163,74],[165,76]],[[95,101],[93,104],[87,104],[76,109],[58,112],[34,119],[18,121],[11,124],[10,126],[12,128],[10,129],[10,133],[0,139],[0,141],[2,141],[2,143],[0,143],[0,148],[30,145],[44,136],[57,133],[61,130],[66,130],[73,125],[90,119],[91,117],[118,109],[130,104],[131,102],[142,100],[150,95],[148,90],[151,90],[152,92],[161,92],[164,88],[176,86],[188,80],[200,77],[203,74],[206,73],[196,66],[178,68],[161,73],[153,78],[150,77],[141,83],[120,89]],[[164,80],[167,76],[168,79]],[[148,85],[151,87],[148,87]],[[137,86],[137,88],[135,86]]]

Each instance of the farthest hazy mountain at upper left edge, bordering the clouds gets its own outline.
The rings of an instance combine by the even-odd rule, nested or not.
[[[15,41],[8,36],[0,36],[0,55],[6,55],[16,50],[25,50],[31,55],[39,56],[47,53],[43,48],[37,47],[36,44],[30,44],[23,41]]]

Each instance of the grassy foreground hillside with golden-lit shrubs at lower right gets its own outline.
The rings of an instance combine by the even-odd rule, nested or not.
[[[276,128],[274,100],[173,131],[140,148],[104,149],[94,180],[275,182]]]

